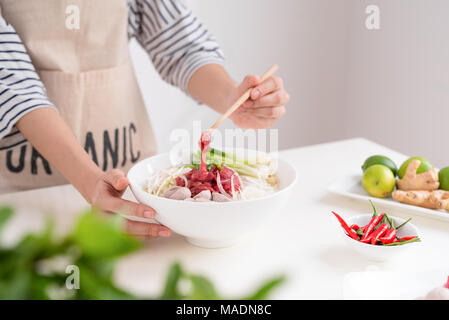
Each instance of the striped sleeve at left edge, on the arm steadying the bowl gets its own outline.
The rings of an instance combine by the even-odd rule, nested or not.
[[[21,117],[42,107],[54,108],[22,41],[0,15],[0,139]]]

